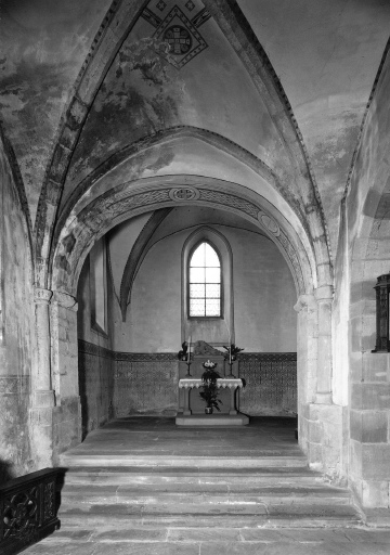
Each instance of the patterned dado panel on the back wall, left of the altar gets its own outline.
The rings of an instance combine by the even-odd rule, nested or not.
[[[115,353],[116,416],[174,414],[177,408],[177,353]]]

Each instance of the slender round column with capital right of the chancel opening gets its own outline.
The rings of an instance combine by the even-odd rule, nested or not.
[[[315,403],[332,404],[332,304],[333,287],[315,289],[318,305],[318,363]]]

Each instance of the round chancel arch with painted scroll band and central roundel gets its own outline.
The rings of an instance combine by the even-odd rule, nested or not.
[[[52,288],[75,296],[78,276],[93,243],[118,223],[146,211],[198,205],[227,210],[259,225],[285,257],[298,294],[312,293],[318,276],[314,254],[281,212],[242,185],[198,176],[169,176],[122,183],[68,217],[58,234],[52,268]]]

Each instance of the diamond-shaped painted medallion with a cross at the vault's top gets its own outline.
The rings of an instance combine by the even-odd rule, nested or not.
[[[195,25],[178,5],[174,5],[161,22],[154,37],[169,44],[168,52],[159,51],[159,54],[177,69],[208,47]]]

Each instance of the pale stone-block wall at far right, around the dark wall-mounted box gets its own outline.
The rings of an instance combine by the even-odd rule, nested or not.
[[[385,62],[370,104],[350,191],[349,234],[349,476],[365,506],[389,507],[390,371],[376,343],[374,286],[389,271],[390,61]],[[338,286],[339,283],[336,283]]]

